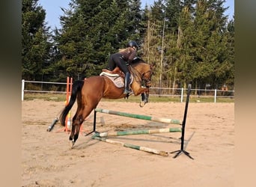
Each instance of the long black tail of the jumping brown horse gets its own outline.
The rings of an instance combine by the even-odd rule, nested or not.
[[[66,116],[70,111],[70,109],[72,108],[73,104],[76,102],[77,93],[81,91],[83,85],[84,85],[84,81],[81,81],[81,80],[73,83],[70,102],[68,102],[68,105],[65,106],[64,110],[61,112],[61,115],[60,115],[60,122],[62,126],[65,126]]]

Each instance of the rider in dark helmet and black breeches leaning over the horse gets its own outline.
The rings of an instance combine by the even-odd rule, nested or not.
[[[131,91],[129,90],[129,70],[127,67],[127,63],[130,63],[133,58],[137,55],[138,44],[131,40],[127,43],[127,48],[119,49],[119,52],[110,55],[109,57],[109,70],[114,70],[115,67],[119,67],[122,72],[124,72],[124,94],[129,94]]]

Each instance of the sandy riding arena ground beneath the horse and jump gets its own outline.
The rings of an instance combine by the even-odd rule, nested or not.
[[[22,102],[22,186],[234,186],[234,103],[189,103],[184,147],[194,159],[170,153],[180,150],[180,132],[111,138],[168,156],[93,140],[85,136],[93,114],[70,149],[69,132],[59,122],[46,131],[62,108],[64,102]],[[182,120],[185,102],[140,108],[137,102],[102,101],[98,108]],[[75,111],[76,104],[72,116]],[[167,127],[179,126],[97,113],[99,132]]]

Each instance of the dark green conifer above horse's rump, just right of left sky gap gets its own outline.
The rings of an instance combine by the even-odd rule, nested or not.
[[[61,60],[55,63],[59,79],[70,76],[83,79],[96,75],[98,65],[102,63],[100,38],[104,37],[102,10],[109,7],[109,1],[73,0],[70,7],[61,16],[62,28],[56,36],[57,48]],[[106,18],[111,15],[106,15]],[[98,52],[98,53],[97,53]]]

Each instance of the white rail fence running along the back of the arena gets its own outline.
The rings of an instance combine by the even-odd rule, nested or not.
[[[67,82],[34,82],[22,79],[22,101],[25,93],[65,93]],[[150,88],[150,96],[172,96],[178,97],[183,102],[187,89],[184,88]],[[196,98],[217,98],[234,99],[234,91],[191,89],[191,97]]]

